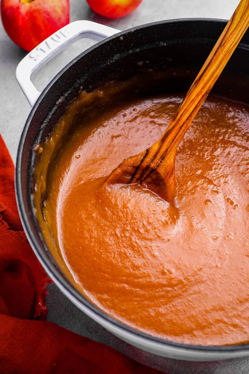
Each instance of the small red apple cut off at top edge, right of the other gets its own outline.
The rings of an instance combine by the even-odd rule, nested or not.
[[[142,0],[87,0],[91,9],[101,16],[119,18],[135,10]]]

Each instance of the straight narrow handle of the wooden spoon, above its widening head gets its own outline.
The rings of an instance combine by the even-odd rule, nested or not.
[[[168,136],[169,132],[171,132],[172,141],[177,142],[177,145],[180,143],[248,26],[249,0],[241,0],[175,113],[165,134],[159,140],[161,145],[162,140],[166,139],[165,135]]]

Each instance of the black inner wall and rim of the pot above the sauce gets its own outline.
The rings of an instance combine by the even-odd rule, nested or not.
[[[39,233],[32,209],[32,175],[35,161],[32,148],[34,144],[44,141],[50,134],[53,126],[64,113],[65,107],[77,96],[81,88],[90,92],[110,80],[127,80],[137,74],[147,74],[152,69],[168,72],[163,85],[165,92],[187,92],[225,24],[225,21],[210,19],[173,20],[119,33],[83,52],[76,61],[64,68],[44,89],[28,117],[17,162],[17,194],[22,220],[46,269],[52,272],[55,278],[60,279],[60,282],[64,283],[63,285],[69,292],[74,293],[80,302],[96,313],[102,312],[80,295],[65,279]],[[249,82],[248,61],[249,31],[227,64],[213,93],[224,95],[225,90],[227,96],[248,101],[248,95],[245,94]],[[178,73],[179,71],[181,73]],[[228,74],[233,76],[229,82],[226,79]],[[104,313],[102,316],[123,328],[130,329]],[[143,333],[138,334],[149,337]],[[155,340],[162,341],[156,338]],[[183,346],[183,344],[176,345]],[[219,349],[229,349],[229,347],[219,347]]]

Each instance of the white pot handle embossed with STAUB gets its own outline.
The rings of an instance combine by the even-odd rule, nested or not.
[[[118,33],[119,30],[91,21],[75,21],[62,27],[29,52],[16,68],[16,80],[31,106],[40,96],[30,78],[35,71],[50,61],[63,49],[78,39],[90,38],[100,41]]]

